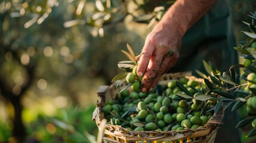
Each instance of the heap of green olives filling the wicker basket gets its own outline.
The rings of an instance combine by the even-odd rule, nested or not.
[[[128,82],[140,82],[134,72],[131,75],[127,76]],[[194,97],[201,95],[202,92],[198,91],[205,89],[203,83],[192,79],[183,77],[178,82],[182,83]],[[121,125],[134,131],[165,131],[197,129],[211,118],[213,113],[209,108],[212,108],[211,104],[214,102],[211,101],[209,104],[209,101],[179,97],[177,94],[185,93],[178,88],[176,80],[171,80],[167,85],[161,86],[161,89],[160,93],[143,93],[134,88],[132,91],[127,89],[121,92],[116,99],[107,101],[102,109],[107,123]],[[205,105],[209,106],[205,108]]]

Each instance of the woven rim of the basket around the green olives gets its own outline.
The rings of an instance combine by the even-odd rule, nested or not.
[[[159,84],[166,84],[166,81],[168,80],[175,80],[175,79],[179,79],[181,77],[186,77],[187,79],[193,79],[196,80],[198,82],[203,82],[203,79],[192,76],[192,73],[190,71],[187,72],[179,72],[179,73],[169,73],[169,74],[164,74],[164,76],[161,77],[161,80],[159,80]],[[162,82],[161,82],[162,81]],[[163,82],[164,81],[164,82]],[[97,124],[98,128],[101,125],[101,119],[103,119],[103,116],[101,113],[101,108],[104,106],[104,99],[103,99],[103,95],[110,92],[110,90],[115,89],[116,86],[116,82],[112,83],[109,86],[100,86],[100,88],[98,89],[98,96],[100,97],[100,100],[97,101],[97,107],[94,110],[93,113],[93,117],[92,120],[95,120],[95,123]],[[115,90],[114,90],[115,91]],[[116,94],[118,94],[118,92],[116,92]],[[153,136],[146,136],[146,137],[141,137],[144,134],[154,134],[154,135],[182,135],[182,136],[176,136],[176,138],[174,137],[166,137],[165,139],[182,139],[182,138],[186,138],[186,137],[198,137],[198,136],[205,136],[205,135],[209,135],[211,132],[215,134],[217,133],[218,128],[220,128],[220,126],[223,124],[224,122],[224,110],[225,108],[223,108],[223,110],[220,110],[219,113],[217,115],[214,115],[211,117],[211,119],[209,119],[209,121],[206,123],[206,125],[204,126],[200,126],[198,129],[196,130],[192,130],[192,129],[184,129],[184,130],[180,130],[177,132],[177,130],[168,130],[168,131],[131,131],[131,130],[127,130],[125,128],[122,128],[119,125],[105,125],[105,131],[104,133],[106,135],[111,135],[111,136],[115,136],[121,139],[125,139],[125,140],[143,140],[143,139],[147,139],[149,141],[162,141],[162,139],[164,138],[164,136],[160,136],[160,137],[155,137],[153,138]],[[218,119],[218,120],[216,120]],[[111,132],[111,131],[113,131]],[[198,133],[199,132],[199,133]],[[193,134],[194,133],[194,134]],[[131,136],[132,135],[132,136]],[[138,137],[137,135],[140,135],[140,137]]]

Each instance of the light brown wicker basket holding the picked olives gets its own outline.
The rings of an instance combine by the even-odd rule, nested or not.
[[[203,79],[198,79],[187,73],[171,73],[162,76],[159,81],[160,85],[166,85],[169,80],[180,79],[186,77],[198,82]],[[98,88],[97,107],[94,110],[92,119],[95,120],[98,128],[100,128],[101,120],[104,119],[104,114],[101,109],[104,107],[105,101],[114,100],[118,95],[118,89],[115,88],[115,83],[110,86],[100,86]],[[218,128],[223,124],[224,109],[217,115],[209,119],[205,126],[200,126],[198,129],[184,129],[180,131],[130,131],[118,125],[105,125],[104,142],[214,142]]]

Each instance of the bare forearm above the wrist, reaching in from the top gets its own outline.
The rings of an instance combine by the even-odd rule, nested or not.
[[[177,0],[166,12],[158,26],[181,36],[204,15],[217,0]],[[161,24],[160,24],[161,23]],[[175,29],[174,29],[175,27]],[[159,28],[159,27],[158,27]]]

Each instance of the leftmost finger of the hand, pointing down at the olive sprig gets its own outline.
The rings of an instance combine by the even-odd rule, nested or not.
[[[140,61],[138,61],[138,76],[143,76],[143,74],[145,73],[147,66],[149,64],[149,60],[152,57],[154,51],[155,47],[153,45],[147,44],[144,46],[140,55]]]

